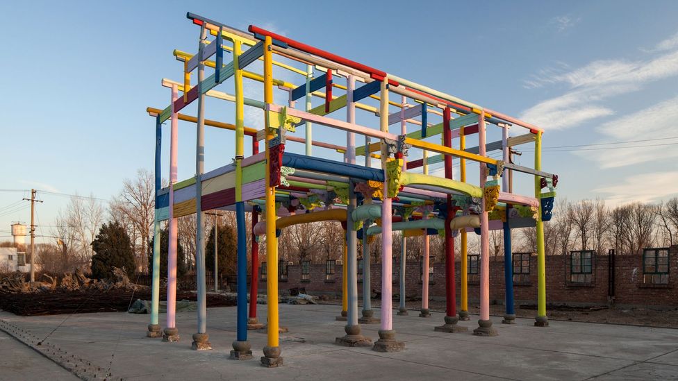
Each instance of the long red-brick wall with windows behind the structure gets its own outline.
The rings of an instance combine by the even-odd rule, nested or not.
[[[678,307],[678,245],[672,246],[670,255],[670,276],[668,285],[643,285],[642,255],[615,256],[615,297],[617,305],[647,305],[657,307]],[[609,256],[594,255],[592,260],[593,276],[589,284],[577,284],[570,279],[570,254],[549,255],[546,257],[546,298],[549,304],[600,305],[609,303]],[[421,296],[421,264],[419,260],[409,260],[406,266],[405,285],[407,296]],[[460,269],[456,262],[457,300],[461,298]],[[372,289],[381,290],[381,263],[371,266]],[[288,279],[279,282],[280,289],[304,287],[309,294],[341,295],[342,265],[336,264],[333,281],[325,280],[325,265],[311,264],[309,280],[301,280],[301,266],[288,266]],[[260,283],[265,291],[265,282]],[[361,292],[362,283],[358,284]],[[504,257],[490,257],[490,303],[504,304]],[[399,276],[393,275],[393,293],[399,294]],[[536,304],[537,300],[537,257],[530,259],[529,281],[514,284],[513,293],[518,304]],[[477,281],[470,280],[468,296],[471,302],[477,301],[480,289]],[[429,296],[445,298],[445,264],[433,263],[433,273],[429,277]]]

